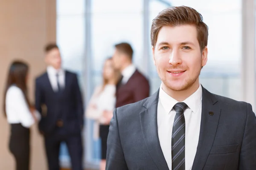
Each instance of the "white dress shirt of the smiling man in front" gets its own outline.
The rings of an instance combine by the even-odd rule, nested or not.
[[[201,112],[202,112],[202,87],[183,102],[188,105],[184,111],[185,116],[185,170],[191,170],[198,146]],[[172,169],[172,126],[175,118],[173,106],[177,100],[166,94],[160,85],[159,101],[157,108],[157,127],[160,146],[169,169]]]

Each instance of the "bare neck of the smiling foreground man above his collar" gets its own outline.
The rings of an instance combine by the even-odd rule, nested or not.
[[[191,96],[193,93],[195,93],[195,91],[197,91],[197,89],[199,88],[199,78],[198,80],[196,80],[196,82],[190,86],[187,89],[181,90],[181,91],[175,91],[172,90],[168,87],[166,87],[166,85],[162,85],[163,91],[165,91],[169,96],[171,96],[173,99],[182,102],[184,101],[186,98],[188,98],[189,96]]]

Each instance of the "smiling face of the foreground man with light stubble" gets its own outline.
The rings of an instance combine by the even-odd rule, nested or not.
[[[201,53],[197,30],[192,25],[163,26],[153,48],[154,64],[163,84],[174,91],[199,84],[199,74],[207,62],[207,47]]]

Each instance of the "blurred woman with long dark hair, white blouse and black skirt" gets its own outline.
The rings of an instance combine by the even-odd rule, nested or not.
[[[9,150],[15,157],[16,170],[29,170],[30,130],[40,114],[28,99],[27,79],[29,66],[21,61],[12,62],[4,93],[4,113],[11,125]]]

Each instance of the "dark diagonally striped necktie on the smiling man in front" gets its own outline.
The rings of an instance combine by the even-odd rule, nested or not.
[[[177,103],[172,127],[172,170],[185,170],[185,117],[188,106],[184,102]]]

